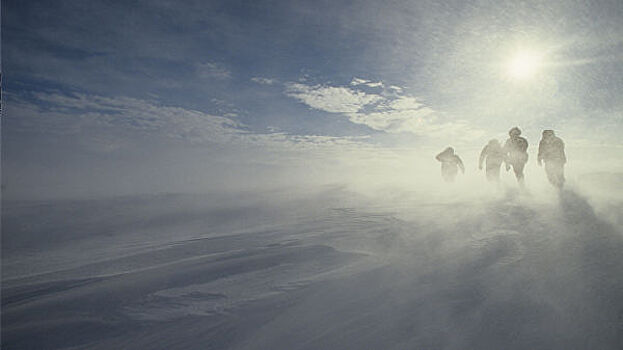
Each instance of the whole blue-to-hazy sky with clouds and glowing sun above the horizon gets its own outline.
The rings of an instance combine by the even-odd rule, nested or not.
[[[583,171],[621,171],[621,18],[618,0],[3,1],[5,194],[412,178],[515,125],[531,152],[554,129]]]

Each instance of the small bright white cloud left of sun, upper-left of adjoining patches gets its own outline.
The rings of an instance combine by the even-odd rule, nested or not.
[[[383,100],[380,95],[346,87],[310,86],[301,83],[287,84],[286,94],[314,109],[331,113],[356,113],[367,105]]]

